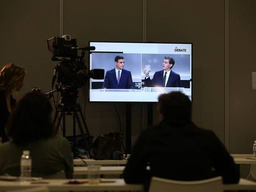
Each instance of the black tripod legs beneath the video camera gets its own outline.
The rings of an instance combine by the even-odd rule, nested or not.
[[[74,104],[64,104],[60,103],[56,107],[56,112],[54,115],[54,135],[57,135],[59,127],[62,122],[62,135],[66,136],[66,115],[72,115],[73,119],[73,145],[72,150],[74,152],[74,157],[79,157],[75,152],[76,147],[76,123],[79,125],[79,130],[81,135],[83,136],[83,139],[85,141],[85,149],[87,152],[87,156],[90,158],[92,156],[92,138],[90,136],[90,133],[88,131],[87,123],[85,122],[85,118],[82,114],[82,109],[80,104],[74,103]],[[82,120],[82,123],[81,123]],[[87,135],[85,135],[85,129]]]

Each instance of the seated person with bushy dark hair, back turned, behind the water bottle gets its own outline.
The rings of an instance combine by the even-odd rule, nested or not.
[[[32,91],[20,99],[7,125],[11,141],[0,146],[0,175],[20,176],[20,157],[23,150],[28,150],[33,177],[64,171],[67,178],[72,178],[70,144],[62,136],[53,136],[52,111],[49,98],[40,91]]]

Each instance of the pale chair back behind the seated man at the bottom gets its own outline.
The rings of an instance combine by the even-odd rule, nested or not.
[[[177,181],[152,177],[149,192],[223,192],[221,177],[198,181]]]

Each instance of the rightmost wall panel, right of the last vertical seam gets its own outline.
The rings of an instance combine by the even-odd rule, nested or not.
[[[256,1],[229,1],[228,119],[230,150],[251,152],[256,138]]]

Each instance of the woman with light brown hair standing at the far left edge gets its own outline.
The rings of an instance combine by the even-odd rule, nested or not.
[[[2,143],[8,141],[5,127],[9,115],[16,106],[16,100],[12,94],[22,88],[25,74],[25,69],[13,63],[4,65],[0,71],[0,138],[2,138]]]

